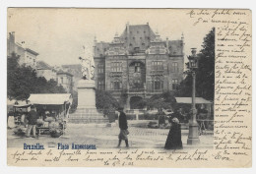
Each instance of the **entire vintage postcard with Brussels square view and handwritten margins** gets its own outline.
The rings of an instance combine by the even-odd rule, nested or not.
[[[7,18],[8,165],[251,167],[250,10]]]

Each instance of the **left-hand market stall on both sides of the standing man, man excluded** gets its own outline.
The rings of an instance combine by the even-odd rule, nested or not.
[[[25,134],[28,113],[33,105],[39,116],[36,121],[37,135],[49,134],[54,138],[60,137],[66,129],[72,101],[70,93],[32,93],[26,101],[15,102],[12,109],[17,120],[15,133]]]

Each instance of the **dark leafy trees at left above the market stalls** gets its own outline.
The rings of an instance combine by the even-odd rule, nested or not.
[[[54,80],[37,77],[31,67],[20,66],[15,53],[7,58],[7,96],[9,99],[25,100],[31,93],[64,93]]]

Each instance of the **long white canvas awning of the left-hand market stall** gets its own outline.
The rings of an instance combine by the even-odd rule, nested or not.
[[[32,93],[28,100],[32,104],[62,105],[65,102],[72,104],[71,93]]]

